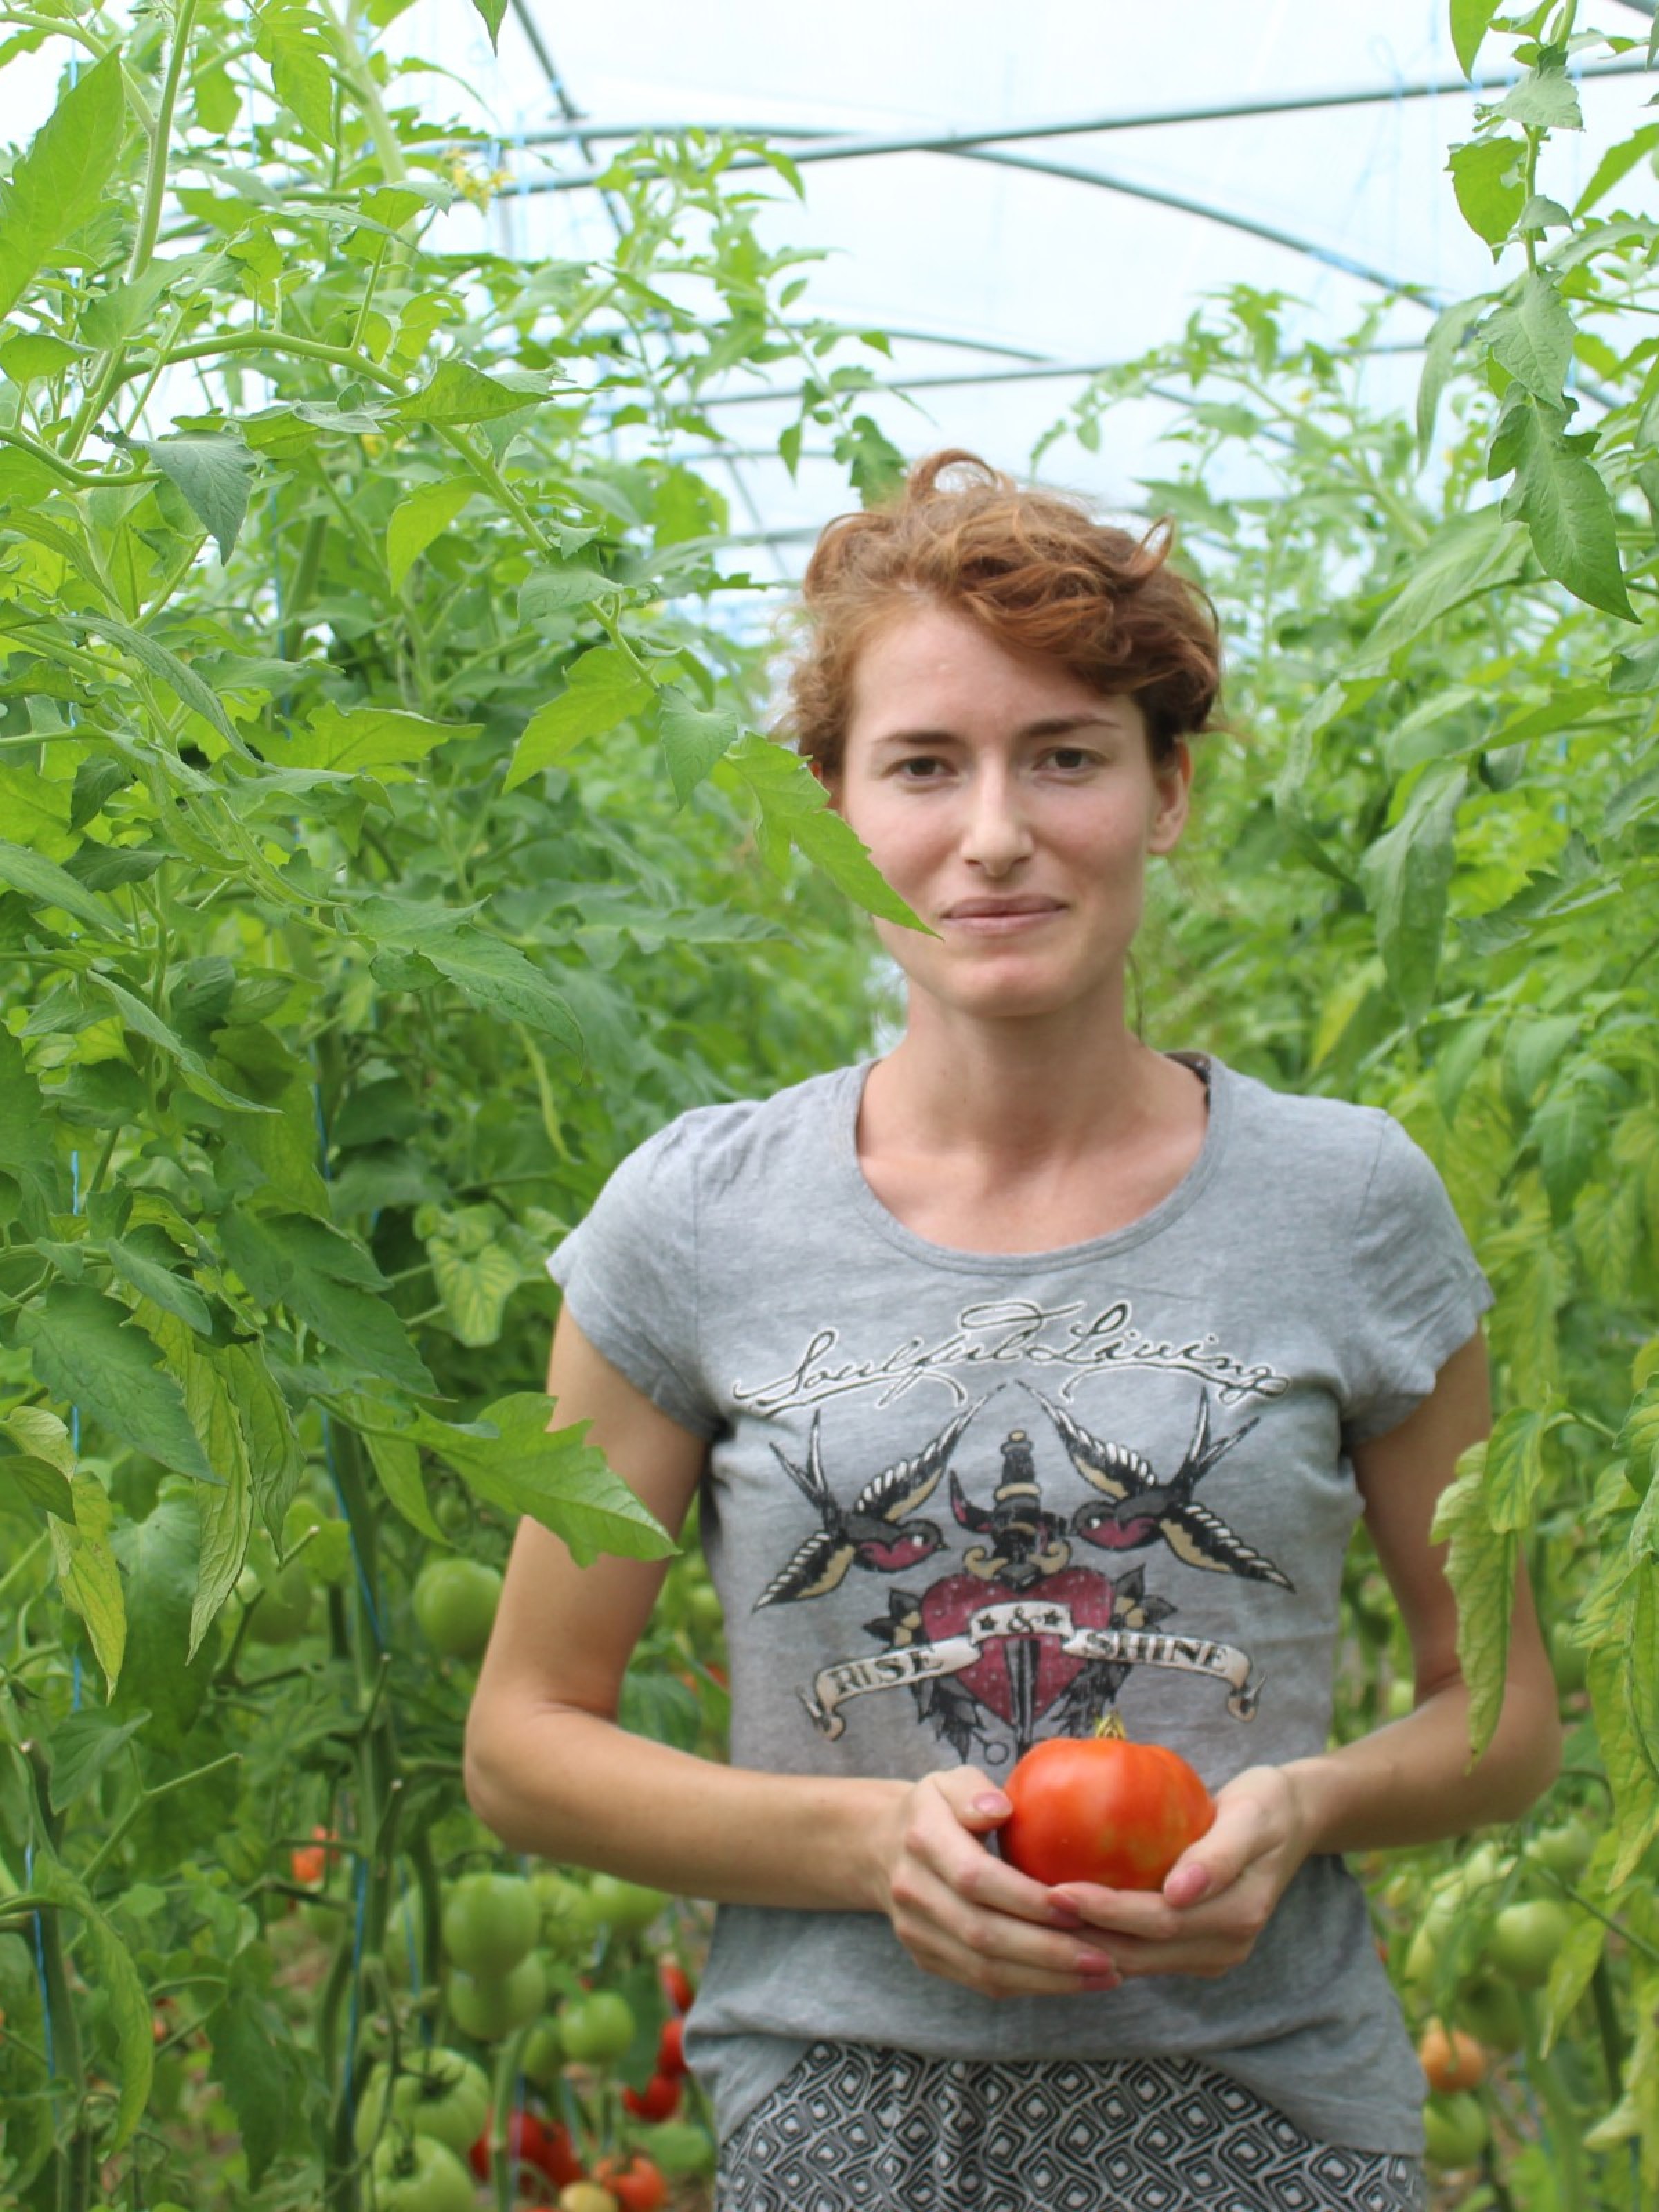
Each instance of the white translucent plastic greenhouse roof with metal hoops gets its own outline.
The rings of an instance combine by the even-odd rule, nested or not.
[[[409,77],[400,104],[484,133],[515,179],[484,212],[458,199],[434,246],[478,243],[487,226],[511,252],[604,254],[606,201],[582,179],[622,139],[765,133],[805,179],[801,204],[759,170],[776,201],[765,234],[825,257],[801,312],[894,336],[891,363],[838,356],[902,387],[860,407],[907,453],[967,445],[1020,471],[1093,369],[1179,336],[1232,283],[1290,294],[1294,327],[1329,345],[1389,288],[1418,288],[1387,310],[1365,365],[1371,396],[1411,403],[1433,310],[1513,274],[1493,270],[1444,175],[1475,97],[1509,82],[1509,42],[1486,40],[1471,86],[1447,15],[1447,0],[507,0],[493,53],[476,7],[414,0],[383,38],[447,73]],[[1644,44],[1584,62],[1588,128],[1551,142],[1553,197],[1571,204],[1599,150],[1644,119],[1652,15],[1655,0],[1579,7],[1577,29]],[[62,58],[38,60],[40,115],[7,115],[7,135],[51,104]],[[1652,179],[1639,190],[1659,201]],[[799,383],[787,365],[772,374]],[[849,504],[845,469],[807,442],[790,478],[776,436],[794,407],[754,372],[706,405],[726,442],[712,462],[699,445],[699,467],[723,471],[732,526],[754,533],[748,566],[794,575],[805,540]],[[1157,400],[1119,407],[1099,453],[1066,438],[1042,473],[1133,511],[1137,478],[1170,473],[1168,420]]]

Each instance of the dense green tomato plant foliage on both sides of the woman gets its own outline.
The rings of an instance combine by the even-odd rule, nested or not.
[[[431,1933],[489,1849],[414,1575],[524,1511],[661,1548],[546,1427],[542,1254],[672,1113],[860,1051],[843,891],[894,911],[748,728],[684,460],[717,376],[787,358],[785,458],[812,422],[880,491],[860,343],[723,142],[619,155],[604,261],[442,252],[434,210],[495,179],[403,104],[394,13],[0,9],[0,71],[77,49],[0,206],[0,2194],[31,2208],[199,2185],[155,2020],[223,2095],[239,2201],[361,2201],[376,2035],[440,2002],[387,1927],[416,1898]],[[1148,1033],[1389,1106],[1498,1287],[1498,1431],[1442,1506],[1478,1732],[1517,1555],[1588,1697],[1509,1838],[1504,1896],[1573,1920],[1469,2203],[1579,2212],[1659,2192],[1659,230],[1621,206],[1659,126],[1555,204],[1571,0],[1451,18],[1522,82],[1453,155],[1493,292],[1440,316],[1416,425],[1363,407],[1367,332],[1294,343],[1239,292],[1053,438],[1186,394],[1148,504],[1234,639]],[[1261,489],[1219,500],[1230,449]],[[699,1743],[686,1577],[628,1710]],[[1405,1650],[1363,1553],[1349,1599],[1365,1728]],[[1548,1876],[1568,1805],[1604,1836]],[[338,1940],[296,2008],[316,1823]],[[1374,1869],[1396,1953],[1451,1856]]]

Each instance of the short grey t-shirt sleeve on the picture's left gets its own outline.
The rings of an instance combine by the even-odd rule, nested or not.
[[[588,1343],[695,1436],[719,1418],[697,1354],[697,1146],[681,1121],[615,1170],[546,1261]]]

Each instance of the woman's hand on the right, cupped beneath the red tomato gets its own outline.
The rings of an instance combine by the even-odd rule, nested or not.
[[[1241,1966],[1307,1858],[1301,1794],[1283,1767],[1245,1767],[1217,1792],[1214,1825],[1177,1858],[1164,1889],[1051,1889],[1106,1933],[1121,1975],[1221,1975]]]

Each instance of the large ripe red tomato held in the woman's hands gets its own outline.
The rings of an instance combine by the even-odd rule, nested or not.
[[[1013,1814],[1002,1856],[1037,1882],[1161,1889],[1214,1820],[1210,1792],[1179,1752],[1121,1734],[1051,1736],[1004,1790]]]

